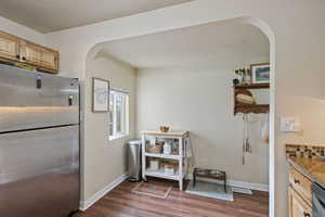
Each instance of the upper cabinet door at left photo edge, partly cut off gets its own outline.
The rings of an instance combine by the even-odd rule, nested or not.
[[[20,39],[0,31],[0,58],[20,61]]]

